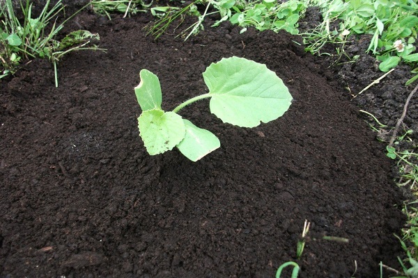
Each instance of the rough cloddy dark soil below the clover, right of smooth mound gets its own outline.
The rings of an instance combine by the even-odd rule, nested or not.
[[[300,28],[309,31],[322,22],[320,10],[318,8],[309,8],[304,18],[300,22]],[[339,28],[335,23],[334,28]],[[396,69],[387,75],[377,84],[362,92],[364,88],[370,85],[380,76],[385,74],[380,72],[379,62],[373,56],[366,53],[371,41],[371,35],[350,35],[347,39],[343,51],[338,55],[335,47],[341,47],[341,44],[326,44],[322,53],[332,54],[325,56],[326,60],[333,64],[330,68],[332,72],[339,76],[341,87],[345,88],[346,96],[350,98],[356,106],[368,111],[378,118],[380,122],[387,125],[387,128],[381,128],[379,139],[389,141],[392,136],[392,128],[396,125],[403,112],[405,101],[416,84],[405,86],[413,75],[410,65],[398,65]],[[417,45],[418,47],[418,45]],[[371,53],[370,53],[371,54]],[[358,56],[357,60],[353,57]],[[404,131],[414,131],[410,137],[415,142],[401,142],[404,149],[416,148],[418,140],[418,95],[412,97],[408,106],[408,113],[403,120],[403,125],[398,135],[403,135]],[[372,124],[378,125],[367,115],[362,115],[364,119]],[[379,128],[379,127],[378,127]]]

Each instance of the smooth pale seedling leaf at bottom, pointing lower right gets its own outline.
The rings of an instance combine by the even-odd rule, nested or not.
[[[212,132],[195,126],[189,120],[183,120],[183,122],[186,127],[186,135],[177,147],[191,161],[199,161],[203,156],[221,146],[219,139]]]

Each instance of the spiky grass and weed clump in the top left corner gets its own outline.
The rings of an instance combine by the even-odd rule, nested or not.
[[[71,18],[62,24],[56,24],[56,17],[64,9],[61,0],[52,8],[49,8],[48,0],[36,18],[32,17],[32,3],[29,3],[29,0],[26,0],[25,5],[20,2],[24,15],[23,23],[15,15],[12,0],[6,0],[5,3],[0,10],[0,63],[3,67],[0,78],[14,74],[23,59],[47,58],[54,64],[55,83],[58,86],[56,64],[63,55],[71,51],[98,49],[96,46],[86,45],[92,40],[99,40],[99,35],[84,30],[72,32],[61,41],[55,40],[63,24]]]

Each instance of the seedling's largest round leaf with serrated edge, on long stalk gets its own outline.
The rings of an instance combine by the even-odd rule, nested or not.
[[[223,58],[212,63],[203,79],[209,88],[210,111],[222,121],[254,127],[283,115],[292,96],[279,77],[245,58]]]

